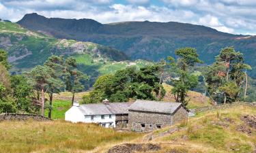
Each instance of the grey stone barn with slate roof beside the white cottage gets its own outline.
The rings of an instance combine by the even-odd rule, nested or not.
[[[137,100],[128,108],[132,131],[153,131],[188,120],[188,109],[182,103]]]

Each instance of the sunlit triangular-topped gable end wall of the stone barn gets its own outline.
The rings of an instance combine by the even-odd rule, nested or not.
[[[180,106],[172,116],[172,124],[188,120],[188,112],[184,107]]]

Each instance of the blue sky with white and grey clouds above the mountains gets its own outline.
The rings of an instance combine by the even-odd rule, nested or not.
[[[186,22],[233,34],[256,35],[256,0],[0,0],[0,18],[28,13],[48,18]]]

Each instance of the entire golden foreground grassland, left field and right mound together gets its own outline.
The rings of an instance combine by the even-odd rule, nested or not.
[[[52,122],[0,122],[0,152],[107,152],[121,143],[155,143],[161,150],[151,153],[255,152],[256,129],[240,118],[255,115],[256,109],[233,106],[201,112],[174,126],[152,133],[127,133],[104,129],[96,124]],[[246,131],[238,131],[244,126]],[[165,133],[177,128],[172,134]],[[246,133],[251,131],[250,134]],[[155,135],[147,140],[148,135]],[[139,152],[137,152],[139,153]]]

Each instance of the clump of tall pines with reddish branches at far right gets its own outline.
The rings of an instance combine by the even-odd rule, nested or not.
[[[236,52],[233,47],[223,48],[205,74],[208,91],[215,101],[238,101],[247,69],[251,67],[244,63],[242,53]]]

